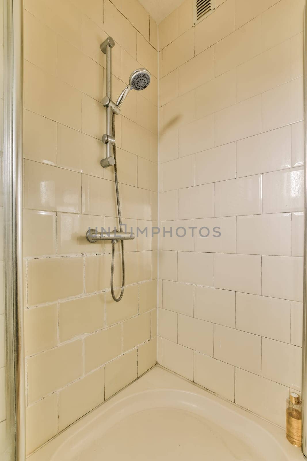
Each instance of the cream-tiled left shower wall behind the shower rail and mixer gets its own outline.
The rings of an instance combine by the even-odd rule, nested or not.
[[[28,453],[156,363],[156,242],[125,243],[117,304],[111,244],[85,239],[116,225],[113,169],[100,166],[108,35],[114,99],[134,69],[152,73],[116,117],[122,216],[135,230],[157,220],[157,26],[136,0],[24,2]],[[120,269],[117,253],[117,286]]]

